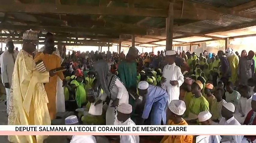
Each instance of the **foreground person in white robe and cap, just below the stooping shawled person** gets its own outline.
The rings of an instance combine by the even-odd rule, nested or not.
[[[132,113],[132,105],[127,103],[121,103],[117,108],[117,118],[114,125],[130,125],[136,124],[130,118]],[[139,143],[138,135],[120,136],[120,143]]]

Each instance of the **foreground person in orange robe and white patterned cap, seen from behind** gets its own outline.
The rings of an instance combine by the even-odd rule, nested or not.
[[[168,125],[188,125],[182,118],[186,111],[185,102],[182,100],[171,100],[167,109]],[[192,143],[192,135],[170,135],[164,136],[160,143]]]

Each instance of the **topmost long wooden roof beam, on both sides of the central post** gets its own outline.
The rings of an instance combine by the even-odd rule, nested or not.
[[[15,9],[13,8],[15,7]],[[0,12],[54,13],[54,14],[92,14],[92,15],[130,15],[145,17],[167,17],[166,9],[127,8],[127,7],[91,7],[56,4],[1,4]],[[181,15],[182,13],[182,15]],[[174,18],[217,20],[219,13],[205,9],[174,10]]]

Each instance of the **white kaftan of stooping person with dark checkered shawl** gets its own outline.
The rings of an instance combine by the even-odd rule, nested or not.
[[[126,90],[124,84],[117,78],[115,85],[117,88],[113,88],[114,93],[118,93],[117,97],[119,99],[119,104],[121,103],[127,103],[129,102],[129,94],[128,91]],[[118,90],[118,91],[115,91]],[[114,125],[115,122],[115,108],[110,107],[112,105],[112,100],[109,102],[109,107],[108,110],[106,111],[106,125]]]

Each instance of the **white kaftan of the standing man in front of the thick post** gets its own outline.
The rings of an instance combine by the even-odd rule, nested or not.
[[[166,78],[166,82],[162,84],[162,88],[165,89],[169,95],[168,97],[168,105],[171,100],[179,100],[180,97],[180,86],[184,82],[184,76],[180,70],[180,67],[176,66],[175,63],[172,65],[165,65],[163,69],[163,76]],[[172,86],[170,84],[170,80],[177,80],[178,85]]]

